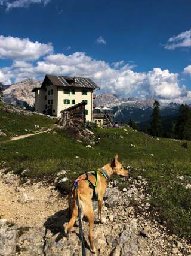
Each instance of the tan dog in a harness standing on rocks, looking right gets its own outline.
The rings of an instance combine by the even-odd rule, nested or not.
[[[120,162],[118,162],[118,155],[115,155],[115,158],[113,161],[109,164],[104,165],[101,169],[98,169],[97,172],[97,186],[96,186],[96,195],[98,197],[98,216],[100,218],[100,221],[103,222],[102,218],[102,206],[103,206],[103,196],[106,192],[107,187],[107,179],[104,177],[110,177],[112,174],[119,175],[119,176],[128,176],[128,171],[126,171]],[[104,175],[105,173],[105,175]],[[90,231],[89,231],[89,241],[90,241],[90,249],[91,252],[96,252],[96,248],[94,246],[93,242],[93,225],[94,225],[94,213],[93,213],[93,206],[91,198],[93,197],[93,189],[89,186],[90,184],[88,182],[85,182],[82,179],[85,179],[86,175],[82,174],[78,177],[78,200],[79,200],[79,206],[82,209],[82,213],[87,217],[89,225],[90,225]],[[96,183],[96,177],[93,175],[88,175],[88,180],[90,180],[93,184]],[[65,233],[69,234],[71,228],[75,224],[76,218],[78,216],[78,207],[76,204],[76,189],[73,186],[72,187],[72,197],[70,197],[70,202],[72,202],[72,205],[70,203],[69,207],[72,210],[72,216],[70,218],[70,221],[67,223],[65,227]]]

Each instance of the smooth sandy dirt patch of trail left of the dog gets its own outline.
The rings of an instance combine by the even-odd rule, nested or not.
[[[8,180],[8,179],[7,179]],[[27,194],[28,201],[24,203]],[[0,216],[20,226],[42,227],[48,216],[67,208],[66,199],[42,182],[13,186],[0,178]]]

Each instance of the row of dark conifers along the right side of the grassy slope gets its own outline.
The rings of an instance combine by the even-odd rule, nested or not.
[[[171,131],[167,137],[191,140],[191,109],[187,104],[181,104],[179,112],[180,114],[176,121],[172,123]],[[130,119],[128,125],[133,129],[138,129],[138,125],[132,119]],[[160,116],[160,103],[156,100],[153,104],[153,112],[146,132],[152,136],[164,137],[164,127]]]

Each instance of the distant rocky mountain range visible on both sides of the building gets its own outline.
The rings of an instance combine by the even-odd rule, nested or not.
[[[35,104],[35,94],[32,92],[34,87],[41,86],[40,81],[29,78],[12,85],[4,86],[4,101],[26,109],[32,109]],[[112,113],[116,121],[124,119],[128,122],[132,118],[135,122],[144,122],[152,115],[153,103],[155,99],[148,97],[140,99],[137,97],[117,97],[113,94],[97,95],[95,104],[97,107],[112,107]],[[170,103],[161,106],[161,116],[177,116],[180,104]]]

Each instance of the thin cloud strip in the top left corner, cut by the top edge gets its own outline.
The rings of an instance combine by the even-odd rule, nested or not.
[[[47,5],[51,0],[1,0],[0,5],[4,5],[6,10],[18,7],[29,7],[30,4]]]

